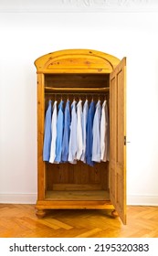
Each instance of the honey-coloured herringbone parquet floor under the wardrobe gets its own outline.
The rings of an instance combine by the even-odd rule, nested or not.
[[[129,206],[127,225],[111,210],[51,210],[37,219],[34,205],[0,205],[1,238],[157,238],[158,207]]]

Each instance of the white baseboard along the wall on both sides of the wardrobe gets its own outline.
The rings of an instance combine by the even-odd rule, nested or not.
[[[37,194],[0,194],[1,204],[36,204]],[[158,206],[158,196],[129,195],[127,205]]]

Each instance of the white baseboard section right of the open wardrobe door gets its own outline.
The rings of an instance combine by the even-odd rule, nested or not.
[[[158,206],[158,196],[129,195],[127,197],[129,206]]]

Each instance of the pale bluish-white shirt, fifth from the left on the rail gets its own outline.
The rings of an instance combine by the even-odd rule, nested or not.
[[[69,145],[68,145],[68,162],[76,164],[77,157],[77,112],[76,112],[76,101],[71,104],[71,123],[70,123],[70,134],[69,134]]]

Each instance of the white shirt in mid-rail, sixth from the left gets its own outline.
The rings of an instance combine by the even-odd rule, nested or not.
[[[82,139],[82,101],[79,100],[77,104],[77,160],[80,160],[83,151]]]

